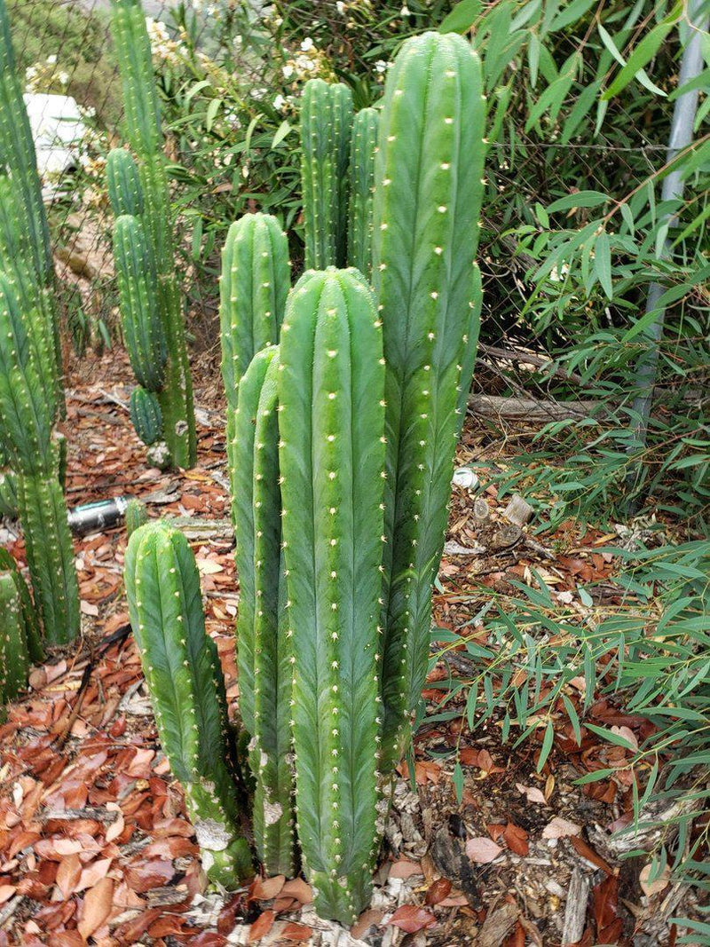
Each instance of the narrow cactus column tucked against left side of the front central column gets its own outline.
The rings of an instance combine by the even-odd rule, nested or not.
[[[234,450],[240,707],[252,735],[254,837],[269,874],[293,875],[291,639],[281,562],[277,348],[255,355],[240,385]],[[248,724],[246,723],[248,721]]]

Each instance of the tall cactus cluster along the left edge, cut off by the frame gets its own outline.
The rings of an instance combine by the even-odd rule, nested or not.
[[[62,491],[65,449],[54,433],[63,389],[53,280],[34,144],[0,0],[0,509],[19,510],[44,637],[61,644],[79,632],[80,608]],[[15,585],[27,625],[27,599]],[[4,597],[14,616],[9,581]],[[27,638],[33,634],[27,630]],[[18,635],[13,653],[22,650]]]

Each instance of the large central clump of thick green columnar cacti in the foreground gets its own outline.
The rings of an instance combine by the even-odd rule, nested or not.
[[[311,80],[302,112],[307,272],[289,290],[286,238],[262,214],[233,224],[222,256],[255,847],[269,872],[290,874],[300,859],[318,912],[344,923],[369,900],[386,795],[429,659],[480,318],[484,125],[480,63],[457,35],[402,46],[382,112],[353,116],[344,86]],[[175,695],[159,692],[148,657],[157,647],[149,629],[163,641],[165,618],[130,578],[148,575],[145,548],[158,581],[151,556],[166,535],[138,530],[127,584],[161,736],[174,740],[161,716]],[[168,565],[166,600],[180,587]],[[187,654],[185,668],[195,661]],[[183,716],[199,716],[190,701]],[[217,757],[229,758],[223,736],[215,741]],[[218,808],[223,823],[231,810],[222,795]]]

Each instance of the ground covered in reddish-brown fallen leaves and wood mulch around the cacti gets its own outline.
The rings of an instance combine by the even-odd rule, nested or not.
[[[91,371],[91,384],[84,372],[69,392],[68,502],[131,494],[146,501],[151,516],[195,519],[188,536],[198,537],[193,548],[207,631],[217,640],[236,710],[237,582],[223,525],[221,397],[216,386],[198,392],[195,470],[161,474],[146,467],[128,414],[115,401],[126,401],[130,390],[125,363],[116,364],[110,353]],[[110,387],[100,378],[111,378]],[[495,462],[499,449],[489,430],[469,424],[459,462]],[[435,597],[438,627],[460,629],[491,593],[505,596],[512,579],[530,581],[533,568],[560,602],[574,599],[577,581],[603,589],[612,576],[611,557],[595,551],[609,536],[589,530],[582,542],[577,527],[566,524],[555,536],[530,540],[523,531],[513,539],[495,490],[482,494],[490,512],[484,526],[472,516],[475,495],[454,491],[449,538],[488,551],[445,559],[443,592]],[[201,536],[204,520],[219,522]],[[2,541],[24,562],[19,533],[0,528]],[[678,911],[680,894],[667,884],[644,890],[643,861],[621,861],[610,841],[610,827],[630,809],[630,754],[591,740],[577,746],[560,717],[554,749],[538,774],[539,743],[502,744],[495,720],[471,733],[464,692],[443,703],[442,682],[454,672],[466,675],[465,654],[457,651],[430,675],[430,714],[417,735],[414,773],[401,768],[372,908],[351,932],[314,916],[302,881],[259,879],[236,895],[207,891],[180,787],[156,739],[133,639],[121,634],[125,546],[122,528],[77,538],[81,640],[32,671],[27,697],[9,706],[0,726],[0,947],[555,947],[565,911],[577,906],[568,904],[571,884],[577,901],[584,899],[579,944],[674,942],[666,918]],[[116,640],[102,644],[112,634]],[[643,735],[643,722],[605,701],[595,703],[591,716]],[[574,784],[602,765],[616,775]],[[574,929],[568,926],[568,933]]]

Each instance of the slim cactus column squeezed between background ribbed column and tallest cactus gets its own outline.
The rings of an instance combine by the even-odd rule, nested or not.
[[[350,145],[347,262],[368,279],[372,270],[372,198],[379,124],[376,109],[361,109],[355,116]]]

